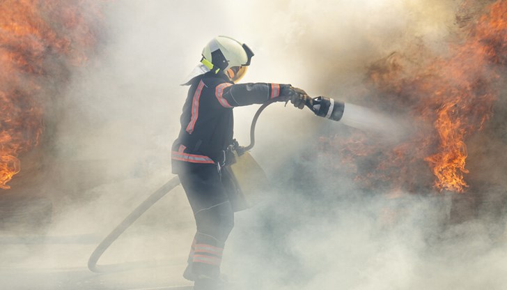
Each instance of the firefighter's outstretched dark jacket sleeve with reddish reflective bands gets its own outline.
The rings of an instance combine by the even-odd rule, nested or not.
[[[273,98],[289,100],[286,98],[290,91],[290,84],[219,84],[215,95],[223,107],[240,107],[253,104],[263,104]],[[285,95],[282,95],[286,92]]]

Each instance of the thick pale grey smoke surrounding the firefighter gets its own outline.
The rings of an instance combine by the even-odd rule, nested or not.
[[[54,203],[49,238],[42,245],[6,245],[2,268],[10,269],[1,275],[3,284],[133,289],[187,283],[180,274],[194,224],[181,188],[141,217],[99,261],[166,259],[169,266],[102,276],[85,267],[100,238],[173,176],[170,147],[187,93],[179,84],[210,38],[232,36],[253,49],[256,56],[243,82],[287,83],[311,96],[354,104],[368,93],[364,81],[375,61],[418,45],[445,55],[446,43],[459,30],[460,4],[107,1],[108,39],[86,68],[72,74],[61,104],[66,114],[52,148],[60,167],[52,169],[45,185],[56,188],[48,193]],[[467,12],[475,13],[472,8]],[[379,118],[393,116],[382,112],[385,107],[357,105]],[[249,142],[256,109],[235,109],[241,144]],[[403,130],[382,128],[387,134],[379,142],[398,142],[409,134],[403,119],[395,120]],[[345,170],[339,175],[327,170],[343,166],[339,147],[319,149],[323,134],[339,138],[348,130],[290,104],[272,105],[260,116],[251,153],[273,190],[263,204],[235,215],[222,270],[238,289],[502,289],[507,282],[503,213],[451,224],[451,192],[385,194],[359,188]],[[488,145],[488,150],[500,148],[501,142]],[[489,212],[487,206],[477,211]],[[54,242],[52,236],[60,239]],[[75,239],[62,245],[62,236]],[[26,273],[33,284],[23,279]]]

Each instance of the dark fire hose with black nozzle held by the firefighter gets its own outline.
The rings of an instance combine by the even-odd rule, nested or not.
[[[265,102],[260,108],[257,110],[256,114],[253,116],[253,120],[250,127],[250,144],[249,146],[244,147],[245,151],[249,151],[255,145],[255,129],[257,120],[260,116],[260,113],[263,110],[271,105],[273,102],[279,101],[279,98],[272,98],[271,100]],[[341,116],[343,115],[343,102],[338,102],[330,98],[318,97],[310,99],[306,102],[306,107],[309,107],[315,115],[326,117],[327,119],[331,119],[334,121],[339,121]],[[130,263],[130,264],[109,264],[105,266],[98,265],[98,260],[102,257],[102,254],[111,246],[118,237],[123,234],[123,232],[129,228],[143,213],[148,211],[148,209],[153,206],[159,199],[162,199],[168,192],[176,188],[180,184],[180,179],[178,176],[171,178],[167,183],[162,185],[158,190],[150,194],[150,196],[143,201],[137,208],[132,211],[125,219],[118,224],[107,236],[100,242],[100,244],[95,248],[92,252],[90,258],[88,259],[88,269],[95,273],[107,273],[107,272],[118,272],[122,270],[130,270],[132,268],[137,268],[140,265],[139,263]],[[150,263],[143,262],[142,266],[162,266],[165,265],[164,261],[152,261]]]

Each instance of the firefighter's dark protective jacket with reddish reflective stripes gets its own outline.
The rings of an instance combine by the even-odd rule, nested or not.
[[[233,107],[262,104],[289,86],[234,84],[225,75],[213,73],[192,79],[180,117],[180,135],[172,146],[173,173],[187,166],[224,162],[224,151],[233,144]]]

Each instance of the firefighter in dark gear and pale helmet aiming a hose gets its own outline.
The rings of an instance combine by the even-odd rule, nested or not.
[[[183,274],[194,281],[195,290],[220,289],[221,257],[234,225],[222,174],[232,160],[233,108],[277,98],[302,109],[309,100],[302,89],[290,84],[237,84],[252,56],[247,45],[233,38],[213,38],[185,84],[190,87],[171,161],[196,220],[197,232]]]

